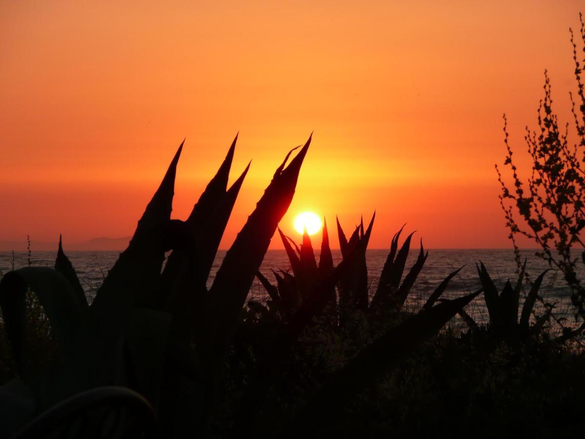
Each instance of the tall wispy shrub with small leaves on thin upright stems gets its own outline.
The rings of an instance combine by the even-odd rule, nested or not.
[[[585,53],[585,23],[579,15],[580,37]],[[513,187],[504,182],[496,165],[501,183],[501,206],[505,212],[510,239],[514,243],[518,268],[521,266],[515,236],[520,234],[531,239],[541,248],[536,255],[546,260],[551,267],[563,273],[572,290],[572,303],[577,311],[585,315],[585,287],[577,275],[577,263],[585,262],[585,244],[581,229],[585,227],[585,91],[582,80],[585,58],[577,54],[573,30],[570,41],[573,46],[574,76],[577,83],[577,100],[570,93],[571,112],[574,119],[576,143],[570,145],[569,124],[560,126],[558,116],[552,109],[552,91],[548,73],[545,71],[545,95],[538,107],[538,132],[526,128],[524,139],[532,159],[532,173],[526,181],[518,175],[512,159],[512,148],[508,143],[507,119],[504,115],[504,142],[507,156],[504,166],[510,167]],[[577,101],[577,102],[576,102]],[[511,203],[507,204],[507,200]],[[515,213],[522,221],[519,222]],[[572,252],[575,246],[581,255]]]

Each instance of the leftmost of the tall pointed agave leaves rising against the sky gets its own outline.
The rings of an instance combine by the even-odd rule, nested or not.
[[[129,313],[136,306],[156,306],[160,272],[167,248],[167,232],[174,196],[179,146],[161,182],[138,222],[128,248],[109,271],[91,304],[99,329],[106,337],[123,331]]]

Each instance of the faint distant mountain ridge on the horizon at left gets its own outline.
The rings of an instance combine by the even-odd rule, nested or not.
[[[68,243],[65,239],[63,242],[63,248],[67,251],[80,251],[80,250],[92,250],[92,251],[123,251],[128,247],[130,236],[123,236],[122,238],[93,238],[85,242],[71,242]],[[45,241],[30,241],[30,249],[33,252],[47,252],[57,251],[59,243],[45,242]],[[26,239],[23,241],[2,241],[0,240],[0,252],[23,252],[27,249]]]

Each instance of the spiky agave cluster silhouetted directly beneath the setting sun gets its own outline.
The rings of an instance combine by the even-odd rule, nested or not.
[[[287,324],[298,320],[300,314],[304,315],[305,324],[310,318],[326,312],[336,317],[333,320],[335,324],[339,322],[343,325],[356,311],[363,311],[367,315],[380,311],[393,313],[401,311],[428,258],[428,252],[425,253],[421,240],[418,258],[402,279],[412,238],[410,234],[402,243],[400,251],[398,250],[398,241],[404,228],[402,226],[393,236],[390,253],[384,264],[376,293],[370,300],[366,249],[375,216],[375,214],[372,216],[367,228],[364,228],[363,220],[360,221],[349,239],[346,238],[339,220],[337,221],[339,246],[342,253],[342,262],[337,267],[333,266],[326,221],[324,221],[319,263],[316,262],[311,239],[306,231],[301,245],[298,246],[279,229],[292,273],[285,270],[278,272],[273,270],[276,286],[271,284],[262,273],[256,273],[270,299],[266,307],[257,302],[250,302],[249,306],[260,315],[277,317]],[[439,300],[449,281],[462,268],[450,273],[439,284],[426,301],[424,310],[430,309]]]

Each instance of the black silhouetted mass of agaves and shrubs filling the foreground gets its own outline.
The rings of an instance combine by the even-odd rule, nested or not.
[[[583,28],[581,35],[585,43]],[[577,71],[580,81],[579,63]],[[583,100],[581,85],[579,90]],[[580,111],[585,121],[585,100]],[[576,124],[583,138],[577,116]],[[543,135],[535,142],[545,148],[558,139]],[[170,219],[180,146],[128,249],[91,303],[61,243],[54,269],[28,266],[6,273],[0,282],[3,437],[19,431],[18,437],[39,437],[26,436],[39,426],[39,416],[46,421],[47,410],[63,408],[60,402],[87,390],[111,393],[105,386],[132,389],[146,399],[157,427],[143,435],[155,437],[582,437],[583,327],[551,331],[563,324],[551,319],[554,304],[535,306],[542,302],[544,273],[529,276],[522,261],[518,278],[501,291],[479,262],[482,289],[452,300],[442,294],[460,269],[445,273],[425,304],[413,310],[405,303],[432,255],[421,241],[417,260],[407,267],[412,234],[404,238],[401,229],[377,286],[370,286],[365,255],[373,215],[349,235],[337,223],[343,258],[338,266],[326,226],[318,260],[307,234],[297,246],[278,230],[290,267],[274,272],[273,279],[259,273],[310,143],[298,147],[287,166],[288,153],[277,168],[210,289],[209,271],[247,173],[228,188],[236,140],[185,221]],[[535,157],[548,157],[546,151]],[[571,275],[578,258],[559,262],[549,245],[555,242],[554,251],[565,260],[566,246],[581,243],[582,192],[574,186],[583,178],[576,155],[571,157],[545,167],[542,181],[553,184],[554,200],[565,194],[562,203],[572,201],[578,212],[572,222],[565,207],[539,198],[535,180],[529,183],[531,191],[536,185],[535,195],[526,201],[514,175],[517,196],[504,185],[503,201],[512,198],[524,214],[528,205],[525,219],[533,230],[546,221],[531,221],[531,212],[547,217],[543,201],[562,222],[547,222],[548,238],[539,243],[565,276],[582,317],[583,287]],[[574,172],[567,174],[569,165]],[[565,172],[562,181],[574,184],[550,183],[546,174],[559,172]],[[511,209],[505,210],[513,237],[519,226]],[[269,297],[262,303],[247,300],[256,277]],[[466,311],[477,297],[487,306],[485,324]],[[464,327],[454,325],[454,318]],[[128,413],[116,417],[108,411],[88,414],[88,422],[92,417],[112,425],[129,419]]]

